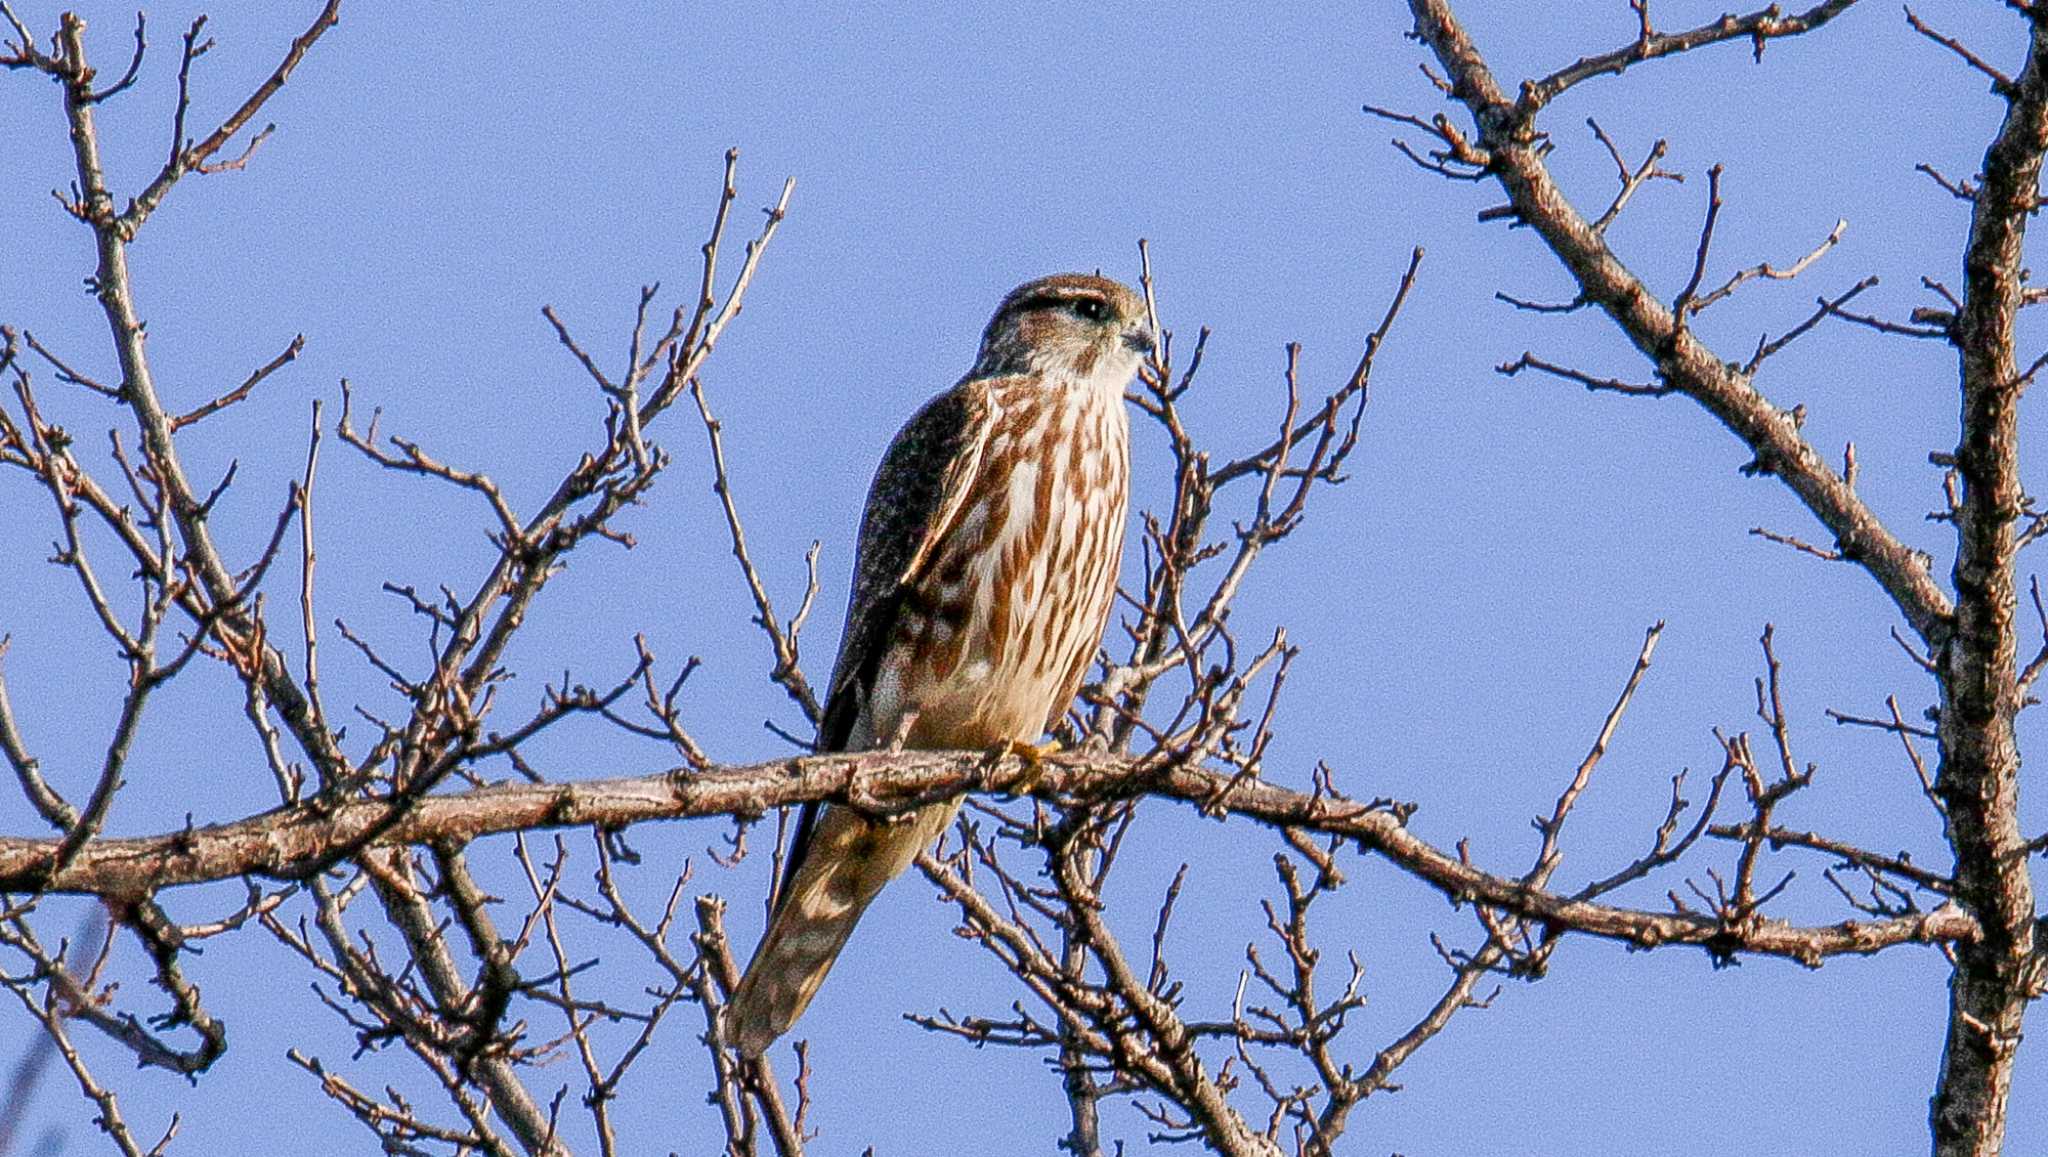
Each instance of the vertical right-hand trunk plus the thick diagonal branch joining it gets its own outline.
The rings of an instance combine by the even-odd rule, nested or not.
[[[2007,102],[2005,121],[1985,154],[1980,182],[1952,188],[1974,205],[1964,252],[1966,295],[1954,319],[1944,322],[1958,352],[1962,395],[1960,440],[1952,461],[1942,463],[1952,467],[1958,485],[1950,510],[1956,528],[1954,598],[1935,584],[1925,557],[1905,547],[1864,506],[1853,479],[1837,473],[1800,436],[1798,416],[1772,405],[1745,367],[1720,358],[1688,330],[1698,272],[1694,285],[1665,305],[1616,258],[1602,229],[1571,207],[1550,176],[1544,137],[1534,127],[1534,115],[1550,98],[1589,76],[1622,72],[1731,35],[1751,37],[1761,53],[1765,39],[1810,31],[1847,6],[1837,0],[1792,18],[1780,16],[1776,6],[1743,20],[1724,16],[1720,25],[1688,33],[1690,41],[1655,35],[1645,12],[1642,39],[1634,47],[1579,61],[1526,84],[1520,98],[1509,98],[1448,0],[1409,4],[1417,37],[1436,53],[1452,82],[1450,94],[1464,102],[1477,125],[1477,137],[1454,149],[1456,160],[1499,180],[1513,217],[1528,223],[1571,270],[1581,299],[1606,311],[1655,362],[1661,387],[1636,393],[1679,393],[1718,418],[1755,453],[1751,469],[1782,479],[1833,532],[1837,547],[1823,557],[1868,571],[1927,645],[1929,670],[1939,684],[1933,795],[1944,807],[1956,858],[1954,901],[1980,926],[1978,936],[1954,948],[1948,1040],[1931,1104],[1933,1153],[1993,1157],[2003,1147],[2025,1008],[2042,993],[2044,973],[2040,917],[2028,874],[2030,848],[2019,827],[2019,749],[2013,735],[2013,719],[2025,700],[2017,659],[2015,555],[2019,520],[2030,514],[2019,481],[2019,395],[2032,377],[2017,365],[2013,324],[2025,303],[2025,225],[2040,207],[2040,168],[2048,154],[2048,12],[2015,4],[2030,29],[2028,63],[2015,80],[1997,76],[1909,12],[1915,31],[1962,53],[1972,68],[1993,72],[1993,90]],[[1700,242],[1700,266],[1710,235],[1712,217]],[[1935,336],[1942,332],[1935,330]]]

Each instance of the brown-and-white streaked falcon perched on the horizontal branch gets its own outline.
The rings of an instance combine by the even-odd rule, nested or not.
[[[1151,348],[1145,301],[1104,276],[1047,276],[1004,299],[975,369],[897,432],[868,487],[819,752],[1038,752],[1116,596],[1124,387]],[[739,1053],[788,1032],[860,913],[958,809],[803,809],[727,1010]]]

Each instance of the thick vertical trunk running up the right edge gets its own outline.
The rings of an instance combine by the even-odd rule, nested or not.
[[[1962,436],[1954,477],[1958,592],[1954,643],[1939,661],[1942,764],[1933,784],[1956,852],[1956,903],[1982,936],[1958,946],[1948,1042],[1933,1096],[1933,1151],[1991,1157],[2005,1143],[2005,1106],[2028,1003],[2040,995],[2034,881],[2019,829],[2017,672],[2019,471],[2015,324],[2025,303],[2025,229],[2040,205],[2048,154],[2048,20],[2030,10],[2025,68],[1985,152],[1962,256],[1954,342],[1962,362]]]

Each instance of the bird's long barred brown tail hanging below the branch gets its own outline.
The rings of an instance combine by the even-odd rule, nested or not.
[[[725,1008],[727,1040],[743,1057],[760,1057],[797,1024],[860,913],[958,811],[961,803],[950,801],[887,823],[844,807],[817,817],[803,864]]]

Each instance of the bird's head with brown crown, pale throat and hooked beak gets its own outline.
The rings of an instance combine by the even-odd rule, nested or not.
[[[1061,272],[1004,297],[981,334],[975,371],[1077,377],[1122,391],[1151,350],[1143,297],[1106,276]]]

